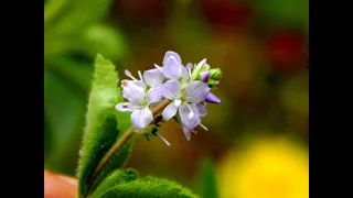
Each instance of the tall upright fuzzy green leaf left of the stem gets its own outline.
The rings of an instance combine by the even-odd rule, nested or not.
[[[110,61],[105,59],[101,55],[97,55],[78,167],[79,196],[85,195],[88,186],[93,184],[92,175],[104,155],[117,141],[119,131],[122,134],[131,125],[128,113],[115,114],[114,112],[114,106],[122,101],[117,84],[118,75],[115,66]],[[119,120],[119,128],[117,118]],[[118,152],[101,174],[107,175],[111,169],[122,167],[129,156],[130,145],[127,144],[124,150]],[[101,180],[104,177],[99,178]]]

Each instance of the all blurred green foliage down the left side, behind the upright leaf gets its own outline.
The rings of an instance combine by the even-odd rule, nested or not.
[[[101,21],[111,0],[44,1],[44,108],[47,118],[44,167],[73,175],[77,164],[85,105],[100,52],[121,63],[127,55],[122,33]],[[45,139],[45,144],[49,141]]]

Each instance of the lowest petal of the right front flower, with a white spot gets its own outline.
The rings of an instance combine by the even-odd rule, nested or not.
[[[183,103],[179,107],[179,116],[181,119],[181,124],[183,128],[188,130],[193,130],[201,123],[201,119],[199,117],[199,111],[196,105]]]

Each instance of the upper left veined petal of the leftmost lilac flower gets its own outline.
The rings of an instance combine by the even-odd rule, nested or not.
[[[137,82],[127,82],[121,90],[122,97],[132,105],[139,106],[145,101],[145,88],[137,85]]]

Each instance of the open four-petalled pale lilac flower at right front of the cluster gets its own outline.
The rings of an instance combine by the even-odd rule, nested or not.
[[[210,92],[207,84],[203,81],[191,81],[182,91],[181,84],[178,80],[168,80],[163,84],[164,98],[172,100],[162,112],[165,121],[176,114],[181,119],[182,128],[188,140],[190,140],[190,131],[201,123],[196,103],[205,100]]]

